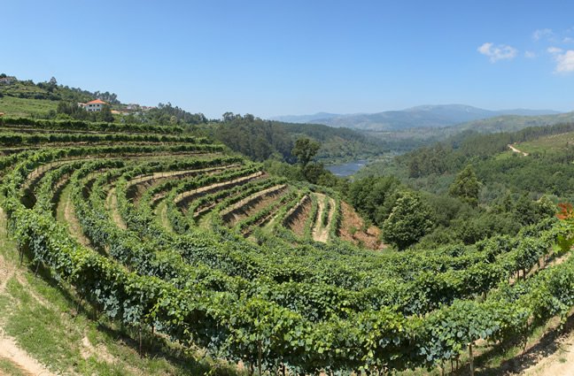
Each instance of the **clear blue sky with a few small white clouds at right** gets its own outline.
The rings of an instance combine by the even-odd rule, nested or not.
[[[0,0],[0,72],[219,118],[574,110],[574,2]]]

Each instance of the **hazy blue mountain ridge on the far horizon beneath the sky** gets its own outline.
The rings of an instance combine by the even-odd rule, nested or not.
[[[561,113],[553,110],[485,110],[465,104],[423,105],[402,111],[336,114],[319,112],[314,115],[278,116],[273,120],[290,123],[324,124],[369,131],[399,131],[407,128],[452,127],[469,121],[491,119],[501,115],[540,116]]]

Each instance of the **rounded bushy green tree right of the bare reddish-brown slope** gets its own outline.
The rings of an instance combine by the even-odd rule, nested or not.
[[[384,241],[398,249],[406,249],[427,234],[432,226],[431,211],[420,196],[400,191],[391,214],[383,223]]]

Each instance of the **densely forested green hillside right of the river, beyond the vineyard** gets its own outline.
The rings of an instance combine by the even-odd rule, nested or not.
[[[574,149],[561,142],[559,149],[532,150],[524,156],[509,145],[547,137],[558,142],[572,129],[568,123],[516,133],[458,134],[368,165],[351,184],[349,197],[364,215],[384,226],[397,192],[419,191],[420,204],[433,222],[421,235],[426,245],[516,234],[522,226],[552,216],[554,203],[574,199]]]

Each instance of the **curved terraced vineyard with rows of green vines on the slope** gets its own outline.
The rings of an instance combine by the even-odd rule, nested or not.
[[[472,364],[480,340],[522,340],[574,307],[574,259],[553,261],[563,222],[381,253],[339,238],[334,192],[180,128],[6,123],[2,207],[21,257],[123,325],[248,369]]]

